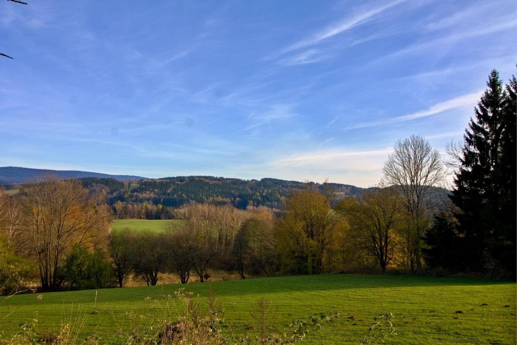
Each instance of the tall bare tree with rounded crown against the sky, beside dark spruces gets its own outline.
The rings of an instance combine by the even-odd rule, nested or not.
[[[443,183],[446,171],[438,150],[423,137],[399,139],[383,168],[384,182],[397,189],[407,213],[403,236],[412,271],[421,265],[420,245],[430,225],[429,209],[435,186]]]

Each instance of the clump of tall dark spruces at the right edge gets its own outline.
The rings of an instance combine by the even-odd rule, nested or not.
[[[455,216],[466,269],[514,274],[515,77],[504,87],[492,70],[486,85],[465,130],[451,199],[461,209]]]

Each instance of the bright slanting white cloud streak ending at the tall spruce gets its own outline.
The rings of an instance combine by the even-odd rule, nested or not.
[[[414,120],[414,119],[418,119],[418,118],[425,117],[425,116],[439,114],[439,113],[448,111],[450,109],[459,108],[459,107],[463,107],[463,106],[471,105],[474,107],[474,105],[476,105],[476,101],[479,99],[479,96],[481,95],[481,93],[482,93],[482,91],[473,92],[473,93],[469,93],[468,95],[456,97],[456,98],[450,99],[445,102],[436,103],[435,105],[431,106],[427,110],[412,113],[412,114],[357,123],[357,124],[354,124],[354,125],[348,127],[347,129],[366,128],[366,127],[381,126],[382,124],[404,122],[404,121]]]

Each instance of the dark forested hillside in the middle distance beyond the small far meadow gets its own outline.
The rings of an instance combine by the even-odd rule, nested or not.
[[[303,182],[265,178],[241,180],[213,176],[180,176],[146,179],[131,184],[106,178],[84,178],[90,192],[102,193],[119,218],[167,219],[172,210],[189,202],[232,205],[239,209],[265,206],[282,209],[293,191]],[[135,182],[135,181],[133,181]],[[323,192],[324,184],[312,183]],[[364,189],[348,184],[327,183],[338,199],[359,195]]]

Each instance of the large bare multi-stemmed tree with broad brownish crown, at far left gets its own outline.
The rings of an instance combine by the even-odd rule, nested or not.
[[[104,206],[79,180],[44,177],[24,190],[19,207],[24,250],[36,259],[44,290],[62,284],[59,268],[74,244],[91,246],[108,230]]]

